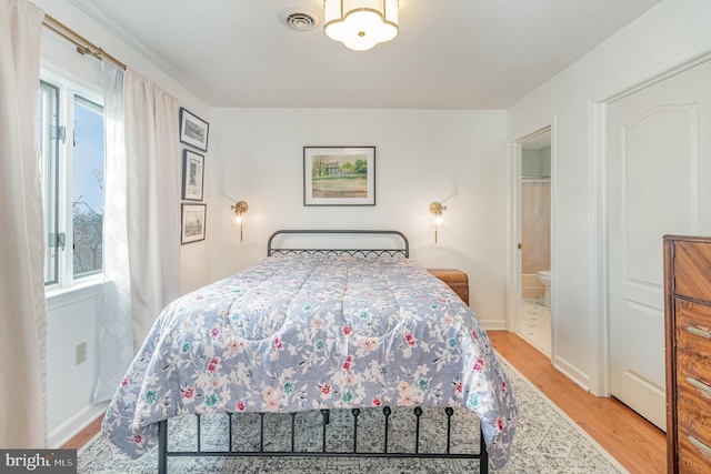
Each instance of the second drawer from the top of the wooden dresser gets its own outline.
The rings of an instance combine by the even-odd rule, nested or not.
[[[711,306],[675,300],[677,350],[711,357]]]

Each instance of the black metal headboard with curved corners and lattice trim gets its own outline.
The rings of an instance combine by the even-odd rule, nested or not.
[[[393,249],[292,249],[276,248],[272,242],[276,238],[283,234],[369,234],[369,235],[392,235],[399,238],[402,242],[393,245]],[[351,256],[403,256],[410,258],[410,242],[408,238],[400,231],[373,231],[373,230],[280,230],[269,236],[267,241],[267,256],[271,255],[351,255]]]

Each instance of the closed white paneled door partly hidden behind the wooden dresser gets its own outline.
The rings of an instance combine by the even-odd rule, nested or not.
[[[608,114],[610,389],[665,430],[662,236],[711,231],[709,62]]]

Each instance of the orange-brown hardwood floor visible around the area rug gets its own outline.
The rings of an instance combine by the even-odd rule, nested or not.
[[[585,392],[555,370],[551,361],[518,335],[490,331],[497,351],[533,385],[592,436],[630,473],[664,473],[664,433],[615,399],[601,399]],[[101,426],[101,418],[74,436],[64,448],[78,450]]]

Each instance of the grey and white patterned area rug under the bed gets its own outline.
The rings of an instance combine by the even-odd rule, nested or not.
[[[535,389],[523,375],[502,360],[509,374],[514,394],[519,401],[520,418],[511,448],[511,457],[501,470],[494,470],[490,464],[490,472],[500,473],[624,473],[624,468],[614,461],[599,444],[584,433],[571,418],[562,413],[549,399]],[[404,409],[403,409],[404,410]],[[346,411],[333,411],[332,425],[338,425],[338,417],[348,416]],[[425,420],[427,416],[438,416],[433,410],[425,411],[422,415],[422,451],[437,452],[444,438],[445,427],[435,421]],[[289,425],[289,415],[273,415],[270,430],[272,433],[286,430]],[[298,430],[298,448],[318,450],[321,433],[321,415],[313,412],[312,417],[298,418],[301,424]],[[380,440],[369,431],[369,423],[375,423],[375,417],[368,411],[363,411],[359,417],[359,440],[369,440],[378,443]],[[412,428],[405,421],[404,413],[393,411],[392,432],[389,431],[392,450],[395,451],[404,437],[398,431]],[[407,418],[409,420],[409,417]],[[471,412],[458,410],[452,417],[452,432],[454,434],[454,447],[461,452],[473,452],[478,444],[479,422]],[[203,416],[201,430],[203,436],[202,450],[224,450],[227,417]],[[257,430],[259,415],[241,420],[234,427],[234,443],[241,450],[251,448],[258,442]],[[282,426],[282,427],[280,427]],[[361,427],[362,426],[362,427]],[[191,440],[194,437],[194,417],[181,417],[169,423],[169,448],[194,450]],[[346,433],[338,428],[329,434],[329,443],[336,443],[339,447],[346,440]],[[288,440],[277,433],[268,436],[266,448],[278,451],[286,448],[279,440]],[[346,441],[343,441],[344,443]],[[360,441],[359,441],[360,443]],[[241,444],[241,445],[240,445]],[[472,448],[472,446],[474,446]],[[329,445],[329,447],[332,447]],[[343,446],[343,450],[347,450]],[[363,450],[359,444],[360,451]],[[156,450],[139,460],[131,460],[123,455],[116,446],[102,436],[97,436],[79,453],[78,472],[87,474],[99,473],[130,473],[152,474],[158,465]],[[319,457],[201,457],[186,458],[171,457],[168,460],[170,473],[477,473],[478,460],[437,460],[437,458],[319,458]]]

